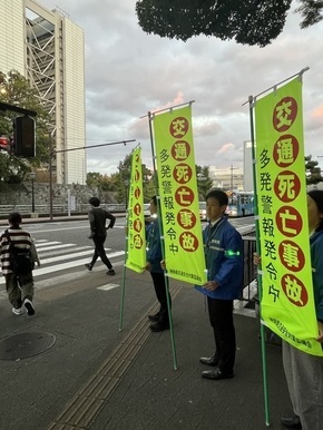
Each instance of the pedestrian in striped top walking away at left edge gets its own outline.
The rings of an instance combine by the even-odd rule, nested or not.
[[[33,299],[33,277],[32,268],[35,263],[40,265],[39,257],[30,234],[20,227],[21,215],[14,212],[9,215],[9,228],[0,236],[1,270],[6,280],[6,289],[11,303],[12,313],[22,315],[23,307],[28,315],[35,314]],[[14,250],[21,250],[23,266],[19,265],[21,257],[17,257],[16,264],[10,255],[10,244]],[[19,260],[18,260],[19,258]],[[25,260],[26,258],[26,260]],[[23,307],[22,307],[23,305]]]

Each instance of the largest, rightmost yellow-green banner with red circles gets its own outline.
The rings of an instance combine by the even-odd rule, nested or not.
[[[298,77],[255,102],[261,310],[283,340],[323,355],[315,341],[302,110]]]

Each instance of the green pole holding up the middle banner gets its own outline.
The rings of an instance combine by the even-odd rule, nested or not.
[[[154,138],[153,138],[153,128],[151,128],[151,120],[153,120],[151,119],[151,113],[148,113],[148,120],[149,120],[149,134],[150,134],[150,145],[151,145],[151,154],[153,154],[155,187],[156,187],[156,192],[157,192],[157,212],[158,212],[158,225],[159,225],[160,242],[161,242],[161,255],[163,255],[163,260],[165,261],[164,229],[163,229],[163,223],[161,223],[161,208],[160,208],[159,187],[158,187],[157,168],[156,168],[156,154],[155,154],[155,148],[154,148]],[[177,354],[176,354],[176,345],[175,345],[175,334],[174,334],[172,309],[170,309],[170,301],[169,301],[169,278],[167,276],[166,270],[164,271],[164,276],[165,276],[165,286],[166,286],[168,319],[169,319],[173,363],[174,363],[174,369],[177,370]]]

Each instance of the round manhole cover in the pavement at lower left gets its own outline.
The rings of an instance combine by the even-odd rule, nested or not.
[[[0,360],[21,360],[41,354],[55,344],[51,333],[19,333],[0,341]]]

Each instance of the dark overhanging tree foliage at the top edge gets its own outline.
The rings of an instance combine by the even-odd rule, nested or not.
[[[301,28],[323,19],[323,1],[298,0]],[[243,45],[270,45],[285,26],[292,0],[139,0],[136,13],[147,33],[187,41],[198,35]]]

